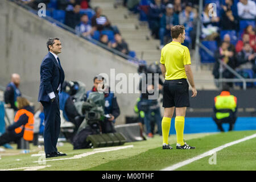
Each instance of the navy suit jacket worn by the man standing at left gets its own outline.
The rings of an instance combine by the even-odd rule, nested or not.
[[[40,87],[38,101],[49,102],[50,98],[48,93],[56,92],[59,84],[63,85],[65,74],[61,68],[61,64],[57,63],[57,60],[51,52],[44,57],[40,66]],[[60,92],[62,88],[60,88]]]

